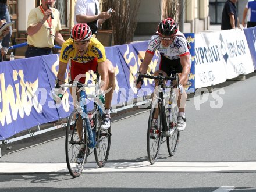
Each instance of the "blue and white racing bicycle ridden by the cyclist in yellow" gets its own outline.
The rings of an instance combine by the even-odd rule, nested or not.
[[[94,157],[97,165],[102,167],[108,160],[111,145],[111,127],[106,130],[100,128],[102,116],[104,115],[101,100],[99,99],[99,74],[95,79],[95,84],[81,84],[78,81],[60,85],[61,88],[79,88],[79,106],[74,109],[69,117],[66,127],[66,163],[70,175],[79,177],[83,172],[84,163],[90,155],[90,149],[94,150]],[[87,94],[85,88],[95,88],[94,94]],[[93,101],[93,110],[87,111],[86,100]],[[92,118],[93,117],[93,118]],[[79,123],[81,121],[82,123]],[[82,126],[81,138],[79,138],[77,127]],[[83,160],[78,161],[77,155],[82,151]]]

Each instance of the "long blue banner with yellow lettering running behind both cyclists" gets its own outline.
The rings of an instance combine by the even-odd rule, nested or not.
[[[194,43],[192,35],[188,37]],[[154,80],[152,79],[145,79],[142,90],[137,90],[134,87],[134,78],[137,77],[137,71],[144,59],[147,45],[148,41],[143,41],[105,47],[106,56],[112,62],[116,74],[112,108],[132,104],[137,97],[149,95],[154,90]],[[193,54],[191,53],[191,55]],[[149,74],[154,74],[158,58],[159,52],[156,52],[148,67]],[[5,140],[36,125],[70,115],[74,106],[68,89],[63,95],[61,104],[55,105],[52,99],[52,89],[55,86],[58,67],[58,54],[1,62],[0,140]],[[191,72],[189,88],[194,86],[193,75],[194,72]],[[67,79],[66,71],[66,82]],[[87,83],[94,79],[95,74],[86,73]],[[93,91],[89,88],[86,90],[89,94]]]

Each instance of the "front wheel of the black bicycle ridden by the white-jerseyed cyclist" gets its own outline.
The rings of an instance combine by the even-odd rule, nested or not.
[[[154,117],[157,117],[157,123],[153,122]],[[151,164],[157,161],[160,145],[162,141],[162,123],[159,110],[152,104],[150,117],[148,119],[148,132],[147,132],[147,152],[148,160]]]

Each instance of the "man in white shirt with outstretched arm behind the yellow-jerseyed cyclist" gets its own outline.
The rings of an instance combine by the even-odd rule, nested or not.
[[[111,13],[100,12],[98,0],[77,0],[74,6],[74,24],[87,23],[93,33],[110,17]]]

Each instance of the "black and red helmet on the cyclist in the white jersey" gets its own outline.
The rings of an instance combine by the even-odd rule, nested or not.
[[[178,27],[172,18],[167,18],[159,23],[157,30],[161,35],[172,36],[177,33]]]

